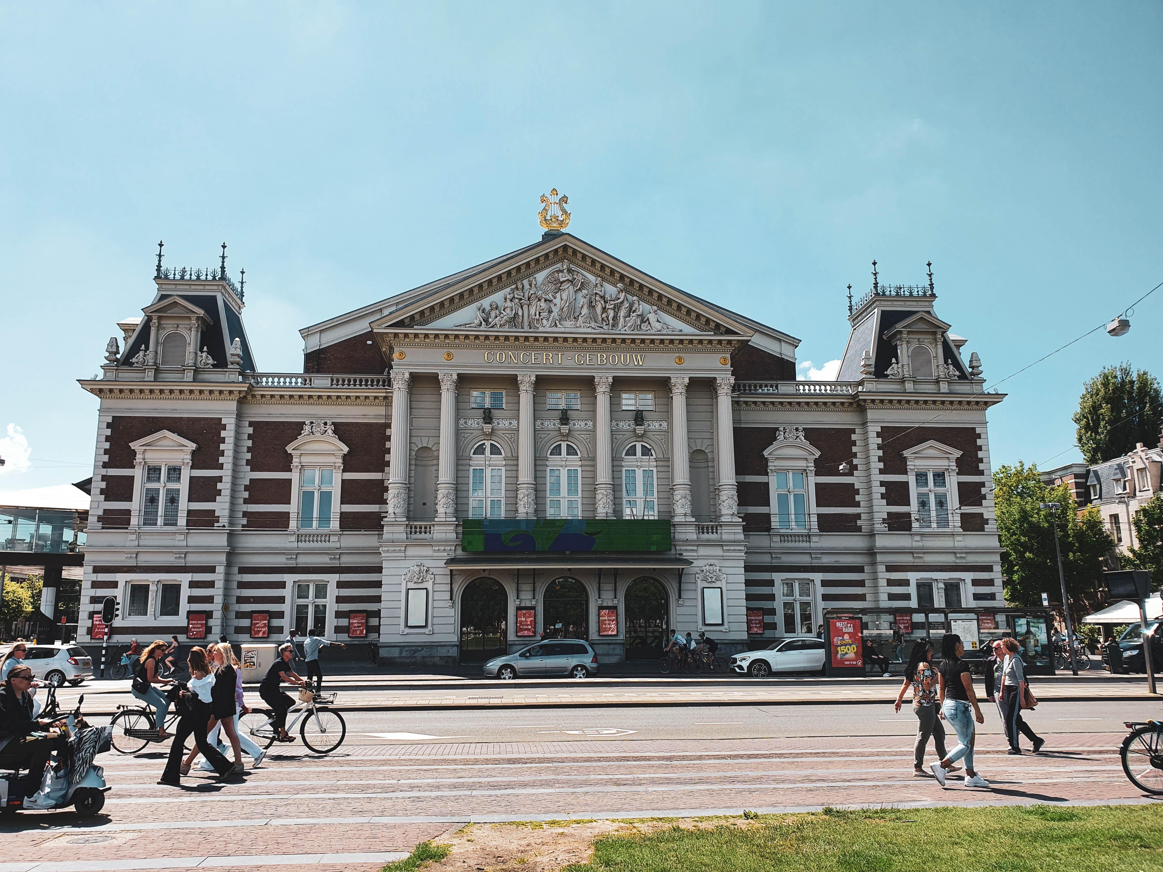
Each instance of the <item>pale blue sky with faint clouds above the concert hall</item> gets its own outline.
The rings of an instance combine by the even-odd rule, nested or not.
[[[298,328],[535,241],[554,186],[805,373],[870,260],[932,260],[1000,379],[1163,280],[1161,37],[1148,2],[0,3],[0,491],[91,473],[74,379],[159,238],[228,242],[259,369],[299,371]],[[1161,313],[1007,381],[994,464],[1076,459],[1086,378],[1163,376]]]

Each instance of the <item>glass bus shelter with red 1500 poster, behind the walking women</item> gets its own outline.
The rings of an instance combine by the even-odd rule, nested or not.
[[[975,667],[990,656],[993,639],[1013,636],[1021,644],[1026,671],[1053,676],[1053,613],[1046,608],[829,608],[823,612],[826,665],[829,676],[865,676],[865,642],[890,663],[907,663],[922,638],[933,641],[934,660],[940,660],[941,638],[956,632],[965,645],[965,659]]]

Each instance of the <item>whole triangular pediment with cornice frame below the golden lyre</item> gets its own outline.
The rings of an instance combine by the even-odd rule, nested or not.
[[[570,234],[522,249],[371,323],[378,333],[750,337],[742,319]]]

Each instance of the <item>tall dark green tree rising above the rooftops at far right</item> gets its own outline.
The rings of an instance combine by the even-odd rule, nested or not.
[[[1107,366],[1083,386],[1078,412],[1078,448],[1086,463],[1122,457],[1142,442],[1155,448],[1160,438],[1163,392],[1146,370],[1130,372],[1130,364]]]

